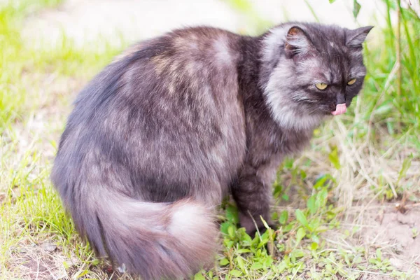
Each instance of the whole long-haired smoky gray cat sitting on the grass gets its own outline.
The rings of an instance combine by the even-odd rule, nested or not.
[[[196,27],[134,45],[80,92],[59,143],[52,182],[80,235],[142,279],[178,279],[212,261],[225,195],[250,235],[271,224],[277,167],[358,94],[370,29]]]

